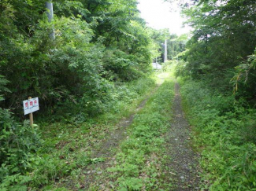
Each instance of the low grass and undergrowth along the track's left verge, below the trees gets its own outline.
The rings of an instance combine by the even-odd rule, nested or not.
[[[76,186],[84,167],[104,160],[91,158],[98,140],[114,130],[118,120],[134,112],[155,83],[143,78],[115,86],[109,93],[112,100],[102,105],[104,112],[94,118],[78,110],[59,123],[39,123],[32,129],[28,123],[15,123],[9,112],[1,110],[0,190],[65,190],[69,187],[65,182],[70,180]]]

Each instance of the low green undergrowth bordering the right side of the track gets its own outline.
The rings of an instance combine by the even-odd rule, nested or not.
[[[256,110],[202,82],[183,82],[181,93],[202,155],[202,189],[256,190]]]

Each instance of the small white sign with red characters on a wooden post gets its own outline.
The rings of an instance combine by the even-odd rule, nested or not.
[[[29,114],[30,126],[33,127],[33,112],[39,110],[39,97],[28,97],[28,100],[23,101],[24,115]]]

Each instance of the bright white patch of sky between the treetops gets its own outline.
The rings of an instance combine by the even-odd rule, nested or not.
[[[138,9],[147,25],[155,29],[169,28],[171,34],[182,35],[190,31],[183,28],[184,18],[180,16],[180,9],[176,3],[163,0],[138,0]]]

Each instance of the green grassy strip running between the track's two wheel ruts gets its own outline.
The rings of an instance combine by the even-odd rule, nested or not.
[[[109,189],[170,189],[172,184],[165,182],[161,164],[164,162],[163,134],[169,127],[173,94],[173,83],[163,83],[135,116],[113,167],[107,169]]]

